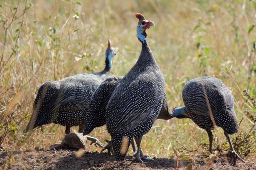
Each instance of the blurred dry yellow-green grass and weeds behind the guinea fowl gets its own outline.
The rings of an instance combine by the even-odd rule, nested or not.
[[[183,106],[182,89],[190,79],[220,78],[230,87],[238,121],[242,120],[240,132],[232,136],[235,149],[252,156],[256,149],[253,0],[1,0],[0,146],[24,151],[35,146],[48,149],[61,141],[60,125],[24,133],[38,88],[45,81],[102,70],[108,38],[118,47],[111,74],[125,75],[141,51],[135,12],[155,23],[147,30],[147,40],[166,80],[169,108]],[[106,126],[90,135],[110,139]],[[215,129],[214,138],[214,149],[229,150],[221,128]],[[142,140],[142,149],[150,156],[170,156],[172,147],[206,152],[207,133],[189,119],[158,120]]]

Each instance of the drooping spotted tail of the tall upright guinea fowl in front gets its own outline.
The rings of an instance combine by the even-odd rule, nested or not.
[[[111,135],[111,138],[116,160],[124,160],[132,141],[132,135],[115,134]]]

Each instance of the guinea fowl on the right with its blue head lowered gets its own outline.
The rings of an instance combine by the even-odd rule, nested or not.
[[[228,134],[238,132],[239,125],[234,111],[233,96],[220,79],[198,77],[186,83],[182,97],[185,107],[172,111],[172,117],[190,118],[199,127],[204,128],[209,137],[209,151],[212,153],[212,132],[214,126],[221,127],[230,144],[234,164],[242,160],[234,150]],[[210,107],[210,108],[209,108]],[[244,162],[244,160],[242,160]]]

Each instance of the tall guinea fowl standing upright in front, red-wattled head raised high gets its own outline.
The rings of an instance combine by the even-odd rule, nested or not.
[[[154,23],[136,13],[137,37],[142,51],[136,64],[114,90],[106,109],[106,125],[111,135],[116,160],[123,160],[134,137],[138,151],[142,136],[158,117],[164,101],[164,77],[146,41],[146,29]],[[141,158],[142,157],[142,158]],[[141,152],[136,162],[147,159]]]

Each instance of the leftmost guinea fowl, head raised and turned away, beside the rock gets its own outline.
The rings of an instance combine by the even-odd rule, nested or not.
[[[34,101],[33,113],[26,127],[26,132],[49,123],[66,127],[79,125],[79,132],[84,130],[84,110],[88,108],[90,97],[97,87],[110,76],[112,57],[116,55],[108,39],[106,49],[106,66],[98,73],[78,74],[60,81],[48,81],[41,85]],[[87,136],[89,140],[95,138]]]

